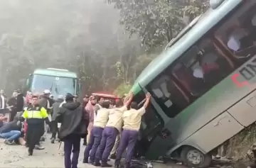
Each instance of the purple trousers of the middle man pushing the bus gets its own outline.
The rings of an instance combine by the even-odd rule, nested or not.
[[[102,133],[102,140],[100,141],[100,146],[97,148],[95,155],[95,162],[99,163],[100,159],[102,164],[107,163],[107,158],[110,156],[110,152],[114,146],[115,139],[119,131],[114,127],[106,127]]]

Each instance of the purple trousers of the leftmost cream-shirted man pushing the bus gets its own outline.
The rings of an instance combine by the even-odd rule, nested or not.
[[[97,148],[100,145],[100,140],[102,139],[103,128],[93,127],[90,133],[90,139],[85,147],[84,160],[88,161],[88,157],[90,155],[90,162],[95,161],[95,153]]]

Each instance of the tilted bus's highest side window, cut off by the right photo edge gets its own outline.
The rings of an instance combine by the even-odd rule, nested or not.
[[[256,1],[245,1],[215,32],[215,37],[240,65],[256,54]]]

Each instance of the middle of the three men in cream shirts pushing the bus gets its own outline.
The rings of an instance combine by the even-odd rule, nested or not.
[[[112,167],[110,164],[107,164],[107,158],[114,146],[117,135],[121,133],[123,123],[122,115],[124,111],[127,111],[127,106],[131,103],[132,98],[133,95],[129,94],[129,99],[124,103],[124,106],[122,106],[123,103],[120,100],[117,102],[117,107],[110,110],[109,121],[107,121],[107,125],[103,130],[102,140],[95,155],[96,165],[100,164],[101,159],[101,167]]]

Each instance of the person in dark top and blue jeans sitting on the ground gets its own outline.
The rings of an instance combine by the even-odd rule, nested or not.
[[[0,138],[4,138],[6,145],[12,145],[18,138],[21,137],[21,122],[15,117],[14,121],[4,124],[0,128]]]

